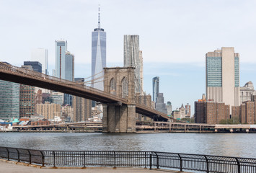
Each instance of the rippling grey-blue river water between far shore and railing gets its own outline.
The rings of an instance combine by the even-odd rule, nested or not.
[[[256,158],[255,133],[0,133],[0,146],[41,150],[165,151]]]

